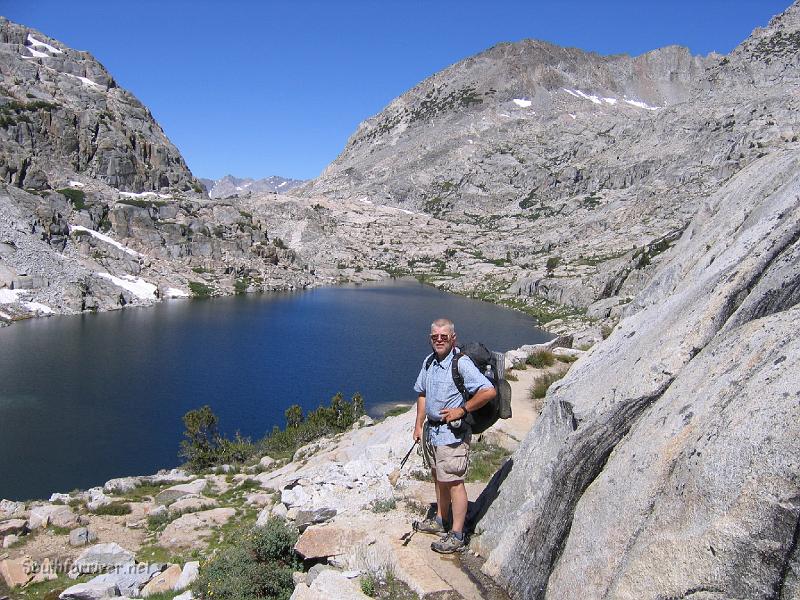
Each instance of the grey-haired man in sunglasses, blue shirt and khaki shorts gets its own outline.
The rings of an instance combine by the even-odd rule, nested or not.
[[[456,354],[456,331],[449,319],[431,324],[433,360],[426,369],[422,364],[414,390],[417,398],[417,420],[414,441],[422,440],[423,458],[431,469],[436,486],[436,517],[416,522],[417,531],[444,534],[431,549],[450,554],[465,549],[464,519],[467,515],[467,489],[464,474],[469,460],[471,431],[466,423],[469,412],[477,410],[495,396],[492,383],[478,371],[467,356],[458,359],[458,371],[470,394],[464,397],[453,382],[451,372]],[[451,512],[452,528],[445,534],[444,519]]]

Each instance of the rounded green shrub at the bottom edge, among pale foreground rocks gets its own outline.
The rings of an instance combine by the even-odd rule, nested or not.
[[[201,600],[288,599],[292,572],[301,565],[294,554],[297,532],[281,519],[254,527],[202,565],[192,585]]]

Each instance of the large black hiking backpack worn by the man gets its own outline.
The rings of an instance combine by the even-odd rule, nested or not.
[[[462,356],[469,356],[475,367],[492,382],[495,397],[467,415],[466,421],[472,428],[472,433],[483,433],[497,422],[497,419],[511,418],[511,386],[505,380],[505,356],[499,352],[492,352],[480,342],[470,342],[458,348],[458,353],[453,355],[451,374],[453,383],[464,397],[464,403],[470,395],[464,387],[464,378],[458,372],[458,360]],[[431,354],[425,361],[425,370],[433,364],[434,355]]]

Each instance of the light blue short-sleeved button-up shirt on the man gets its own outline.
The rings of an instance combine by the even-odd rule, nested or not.
[[[464,397],[458,391],[450,372],[453,353],[450,352],[441,362],[434,355],[433,362],[431,362],[431,366],[426,371],[425,362],[427,360],[428,358],[426,357],[425,361],[422,362],[417,382],[414,384],[414,391],[425,396],[425,416],[428,417],[428,420],[441,421],[442,415],[439,414],[439,411],[445,408],[458,408],[464,404]],[[493,387],[492,382],[478,371],[478,368],[468,356],[458,359],[458,372],[464,378],[464,387],[467,388],[470,396],[478,390]],[[431,443],[434,446],[455,444],[460,442],[468,431],[469,429],[465,429],[460,436],[457,436],[447,423],[442,423],[441,425],[431,423]]]

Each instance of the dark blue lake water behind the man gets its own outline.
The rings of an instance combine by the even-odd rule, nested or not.
[[[284,410],[411,402],[430,322],[497,350],[548,338],[517,312],[397,282],[171,301],[0,329],[0,498],[49,496],[179,464],[181,417],[208,404],[259,438]]]

